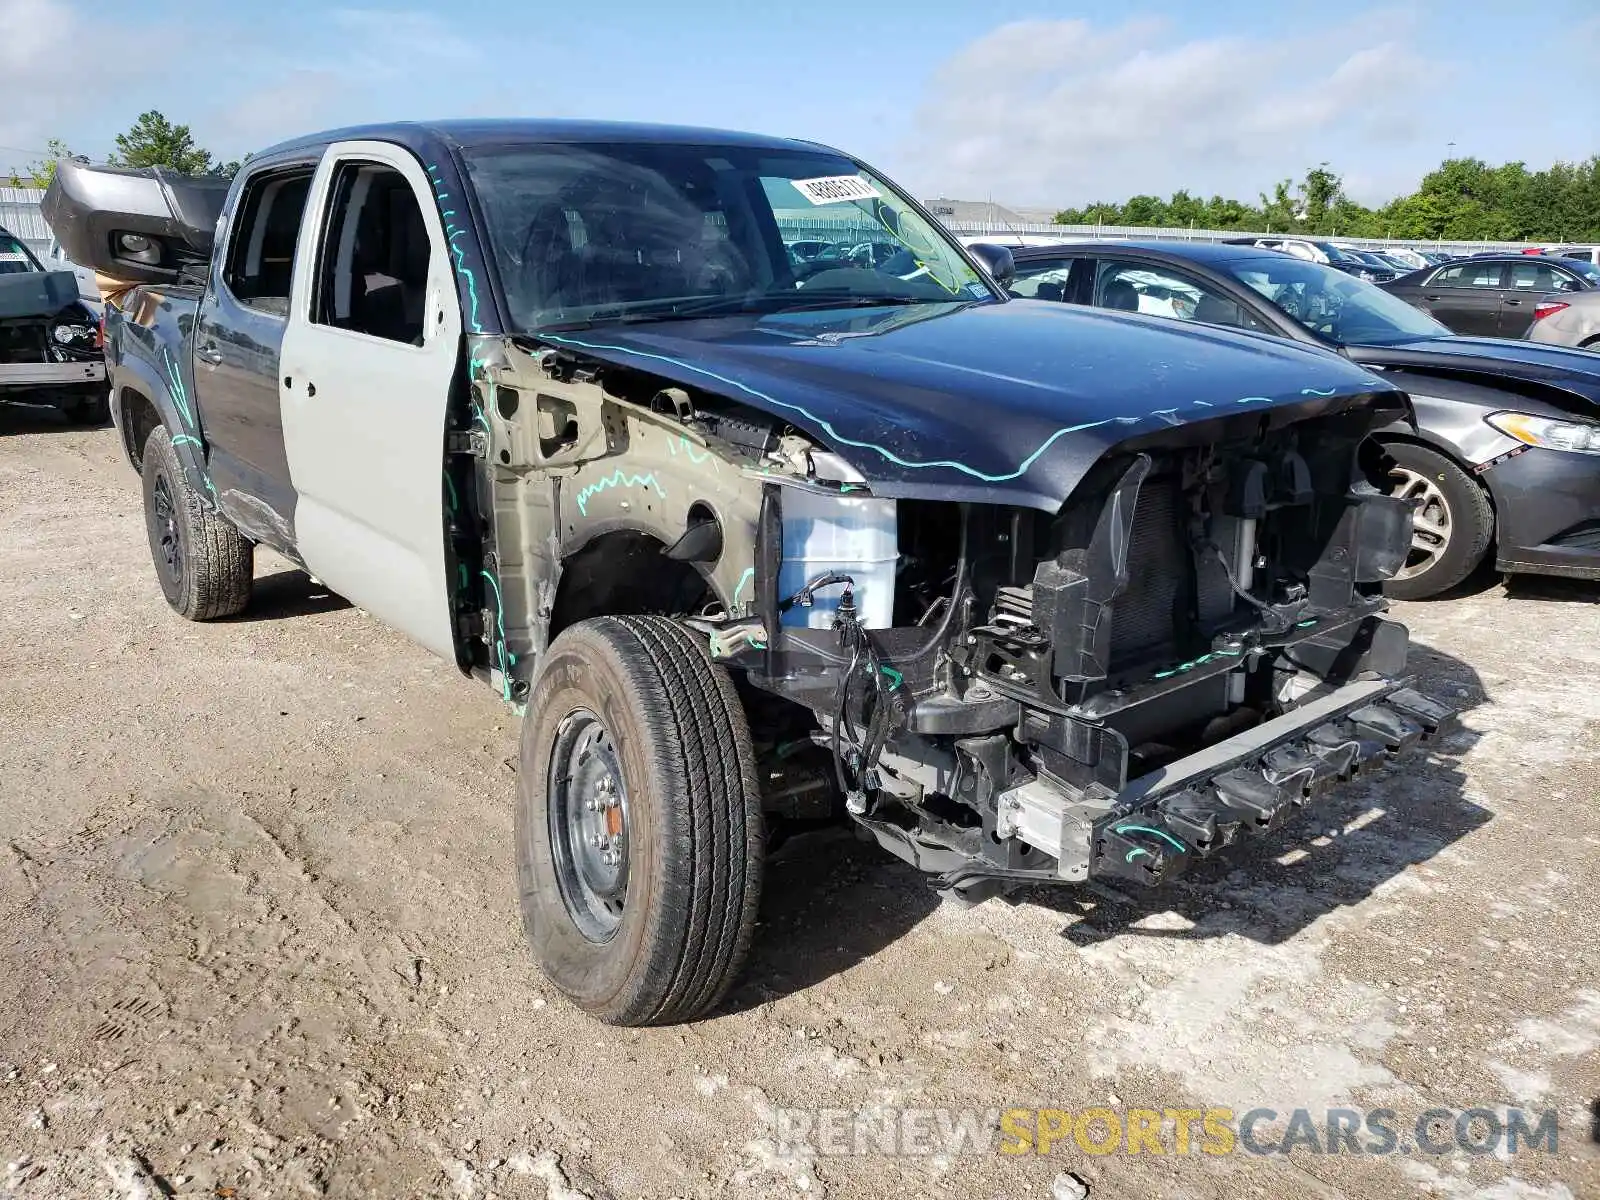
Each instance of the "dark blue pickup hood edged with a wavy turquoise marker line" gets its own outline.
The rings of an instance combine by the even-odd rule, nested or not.
[[[1395,389],[1245,333],[1035,301],[786,312],[539,334],[749,403],[885,496],[1054,510],[1118,442],[1163,426]]]

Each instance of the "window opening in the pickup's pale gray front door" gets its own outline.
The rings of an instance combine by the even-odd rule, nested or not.
[[[344,163],[333,179],[312,322],[421,346],[432,243],[416,192],[381,163]]]

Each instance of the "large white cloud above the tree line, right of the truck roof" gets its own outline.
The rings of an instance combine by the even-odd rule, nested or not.
[[[1410,110],[1443,74],[1408,32],[1395,14],[1314,38],[1002,26],[934,72],[907,174],[944,195],[1061,205],[1179,187],[1253,198],[1322,160],[1387,181],[1363,155],[1422,136]]]

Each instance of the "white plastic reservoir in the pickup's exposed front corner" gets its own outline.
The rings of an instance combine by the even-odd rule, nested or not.
[[[894,501],[870,496],[784,488],[784,557],[778,570],[778,598],[787,600],[829,571],[856,581],[856,614],[867,629],[894,624],[894,566],[899,530]],[[824,587],[811,608],[795,605],[786,626],[830,629],[843,584]]]

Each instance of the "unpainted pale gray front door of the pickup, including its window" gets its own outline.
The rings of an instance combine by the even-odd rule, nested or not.
[[[278,395],[306,570],[454,656],[445,408],[461,306],[434,192],[397,146],[328,147],[283,334]]]

